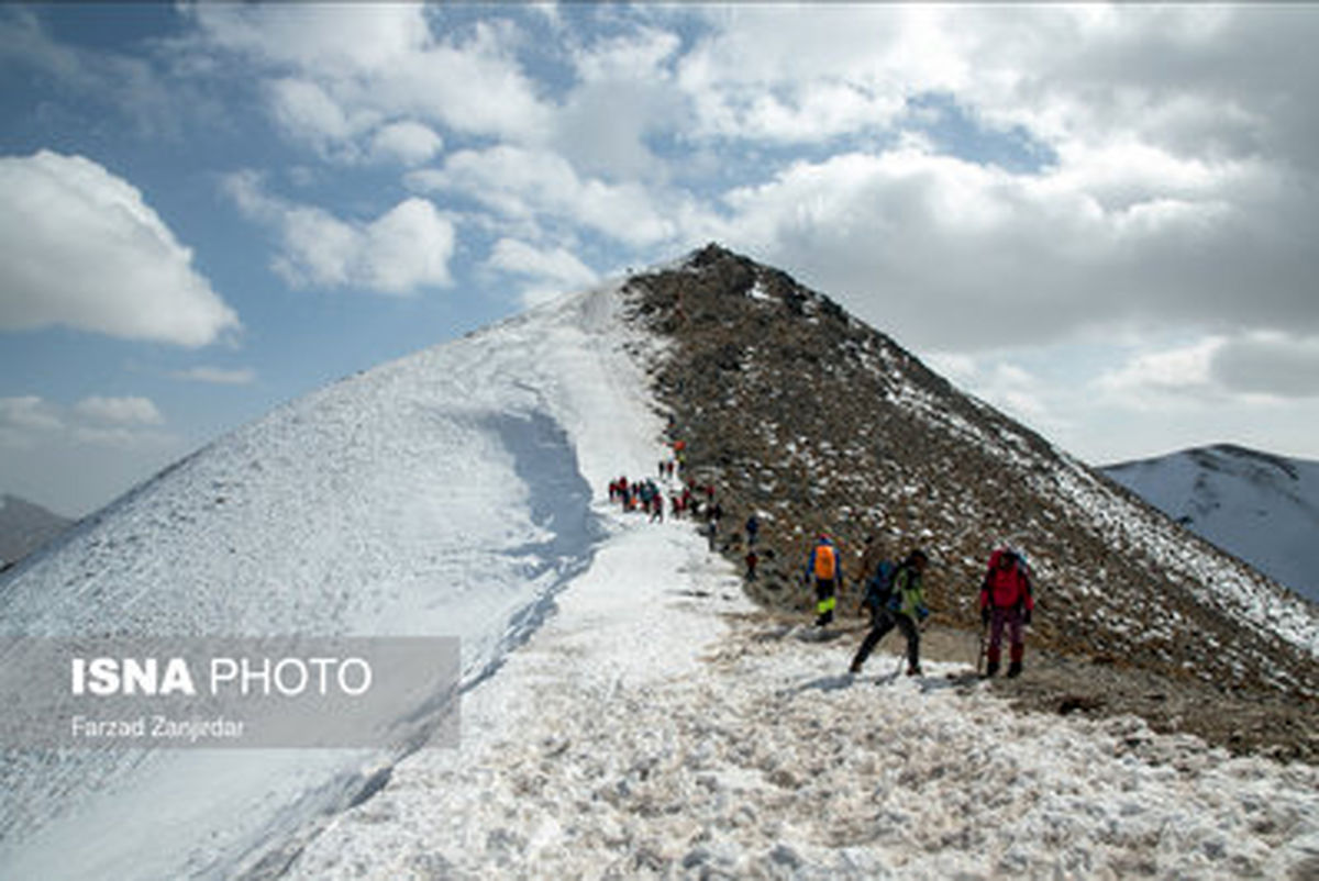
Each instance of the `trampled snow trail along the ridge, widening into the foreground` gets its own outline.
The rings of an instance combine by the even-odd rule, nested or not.
[[[889,637],[749,608],[690,525],[613,520],[462,746],[340,815],[295,878],[1316,877],[1319,772],[1136,719],[1022,715]],[[881,679],[881,683],[876,683]]]

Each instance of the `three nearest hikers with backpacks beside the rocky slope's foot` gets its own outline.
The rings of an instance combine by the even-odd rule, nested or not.
[[[925,568],[929,555],[913,549],[894,564],[884,558],[874,537],[865,539],[861,553],[861,579],[865,593],[857,604],[857,613],[867,612],[871,629],[852,658],[849,673],[861,671],[890,630],[898,629],[906,637],[906,673],[921,674],[921,625],[930,617],[925,601]],[[834,620],[838,593],[843,586],[843,567],[838,546],[828,535],[820,535],[806,563],[807,582],[815,583],[815,625],[826,626]],[[1024,555],[1010,547],[1001,547],[989,555],[979,596],[980,623],[988,634],[981,636],[981,653],[987,661],[985,675],[997,675],[1002,662],[1002,637],[1008,636],[1008,677],[1018,677],[1026,654],[1025,628],[1035,608],[1030,584],[1030,567]]]

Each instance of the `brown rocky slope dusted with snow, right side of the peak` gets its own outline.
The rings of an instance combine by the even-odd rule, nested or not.
[[[1312,712],[1314,605],[960,393],[828,297],[718,245],[633,277],[625,293],[633,319],[666,343],[652,380],[689,473],[719,488],[725,529],[761,513],[762,578],[749,590],[766,605],[809,607],[801,571],[818,533],[840,541],[853,570],[876,535],[889,555],[930,553],[938,620],[976,629],[984,561],[1010,542],[1037,576],[1034,645],[1242,698],[1289,695]],[[728,532],[723,549],[740,559]]]

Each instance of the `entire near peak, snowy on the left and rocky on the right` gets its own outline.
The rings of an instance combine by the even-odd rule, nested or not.
[[[1219,653],[1211,677],[1312,721],[1312,609],[715,248],[290,402],[0,579],[7,633],[458,634],[464,690],[452,753],[9,750],[0,877],[1319,865],[1308,766],[1217,773],[1225,753],[1130,719],[1013,721],[993,690],[942,679],[966,659],[886,690],[847,679],[852,645],[749,609],[687,524],[608,508],[608,480],[653,473],[666,431],[727,522],[772,514],[757,597],[777,609],[799,599],[798,542],[828,528],[851,550],[873,530],[929,547],[939,620],[967,623],[964,579],[1010,538],[1041,571],[1053,646],[1175,670]],[[1202,624],[1207,645],[1188,636]],[[1008,733],[1020,746],[985,753]],[[1035,758],[1055,753],[1066,773]],[[1187,818],[1187,799],[1231,816]]]

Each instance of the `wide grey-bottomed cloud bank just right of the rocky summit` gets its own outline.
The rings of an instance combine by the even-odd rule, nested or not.
[[[1275,197],[1257,162],[1141,154],[1161,160],[1163,189],[1138,164],[1124,178],[1113,153],[1039,174],[919,146],[799,161],[728,193],[721,235],[926,348],[1169,320],[1203,332],[1319,328],[1312,257],[1295,233],[1319,227],[1319,214]]]

